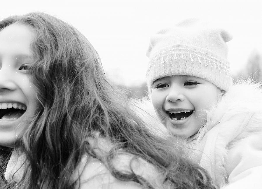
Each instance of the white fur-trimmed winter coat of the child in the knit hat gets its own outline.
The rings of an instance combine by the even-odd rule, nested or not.
[[[262,188],[262,89],[237,83],[207,111],[195,157],[217,188]],[[201,153],[202,152],[202,153]]]

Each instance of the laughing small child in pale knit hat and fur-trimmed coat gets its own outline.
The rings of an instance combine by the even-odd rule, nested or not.
[[[251,81],[233,85],[231,39],[200,20],[159,31],[147,51],[147,85],[158,118],[196,149],[192,157],[217,188],[260,188],[262,90]]]

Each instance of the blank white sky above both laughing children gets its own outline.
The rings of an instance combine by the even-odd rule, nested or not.
[[[0,19],[32,11],[59,17],[88,38],[111,79],[139,85],[145,81],[150,36],[190,17],[215,20],[233,34],[228,60],[238,73],[252,50],[262,53],[261,7],[259,0],[6,0]]]

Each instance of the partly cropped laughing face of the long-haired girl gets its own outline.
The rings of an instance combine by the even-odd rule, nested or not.
[[[11,24],[0,31],[0,145],[12,147],[36,109],[36,91],[27,66],[32,64],[29,26]]]

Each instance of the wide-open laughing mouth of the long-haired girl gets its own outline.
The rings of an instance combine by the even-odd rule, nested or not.
[[[26,106],[20,103],[0,103],[0,120],[16,120],[26,111]]]

